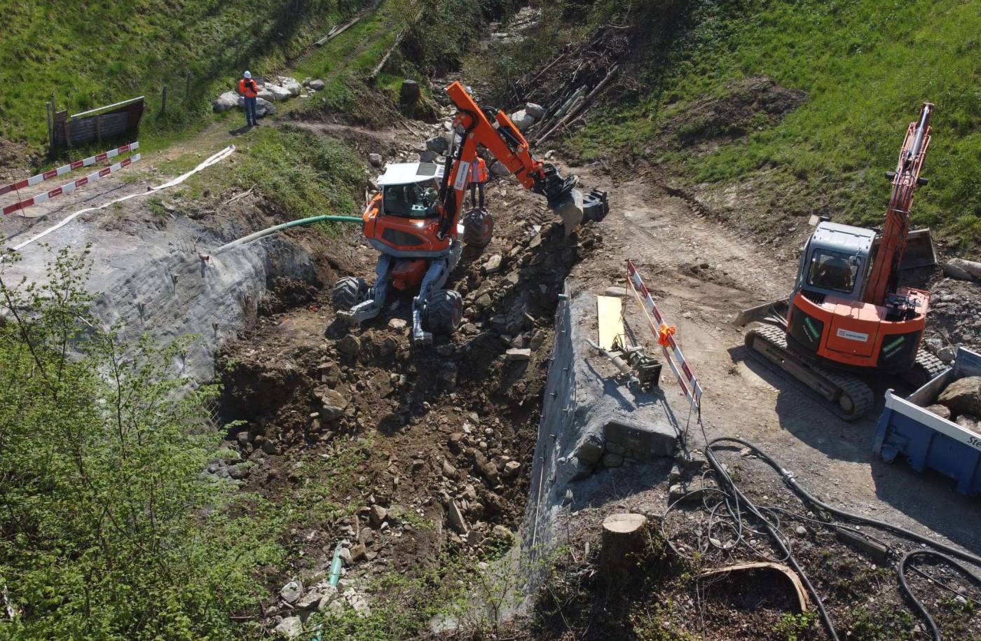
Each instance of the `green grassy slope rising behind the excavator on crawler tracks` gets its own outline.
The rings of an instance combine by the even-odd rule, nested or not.
[[[652,2],[652,0],[648,0]],[[957,0],[800,0],[687,3],[679,35],[656,52],[651,89],[594,119],[570,145],[584,156],[643,154],[671,114],[728,81],[765,74],[808,91],[775,127],[716,152],[666,154],[692,183],[718,185],[770,170],[786,207],[824,206],[836,220],[878,224],[904,128],[922,101],[937,106],[923,189],[913,208],[960,250],[981,244],[981,12]],[[790,189],[791,183],[803,189]],[[764,183],[766,184],[766,183]],[[778,202],[780,199],[778,199]],[[809,210],[809,211],[808,211]]]

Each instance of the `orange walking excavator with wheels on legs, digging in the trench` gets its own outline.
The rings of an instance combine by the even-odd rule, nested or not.
[[[584,195],[576,176],[563,177],[553,165],[537,160],[503,111],[478,105],[460,82],[450,84],[446,93],[457,114],[445,163],[387,166],[362,217],[362,232],[379,252],[375,282],[369,286],[362,278],[347,276],[333,290],[337,317],[356,326],[382,313],[390,287],[419,287],[412,300],[415,345],[431,345],[434,333],[451,334],[459,327],[462,298],[443,286],[464,245],[483,248],[490,243],[493,218],[486,209],[461,216],[482,149],[526,189],[545,197],[567,235],[584,217],[599,220],[609,211],[605,192],[594,189]]]

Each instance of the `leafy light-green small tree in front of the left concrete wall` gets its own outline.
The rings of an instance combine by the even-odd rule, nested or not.
[[[0,637],[241,638],[275,546],[202,478],[214,386],[175,372],[187,339],[120,342],[90,313],[87,252],[46,282],[0,271]],[[255,611],[252,610],[252,613]]]

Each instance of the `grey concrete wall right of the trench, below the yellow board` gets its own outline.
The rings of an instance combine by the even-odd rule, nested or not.
[[[595,326],[595,295],[577,291],[575,282],[566,283],[565,294],[555,314],[555,347],[522,528],[529,567],[547,559],[558,543],[559,516],[589,503],[602,489],[608,467],[622,465],[625,457],[644,465],[671,456],[679,432],[659,388],[628,389],[586,342]],[[537,574],[529,577],[529,592],[541,579],[541,570]]]

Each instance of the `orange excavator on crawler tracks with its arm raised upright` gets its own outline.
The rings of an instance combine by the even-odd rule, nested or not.
[[[923,104],[906,130],[896,171],[886,173],[892,196],[882,233],[822,220],[803,246],[789,300],[744,310],[736,320],[760,320],[746,333],[749,353],[794,375],[846,420],[859,419],[873,404],[860,374],[901,374],[919,386],[944,369],[919,350],[930,292],[899,283],[910,241],[909,208],[916,189],[927,183],[920,171],[933,110]],[[918,241],[916,253],[925,245],[933,256],[928,230]],[[912,263],[928,264],[921,255]]]

